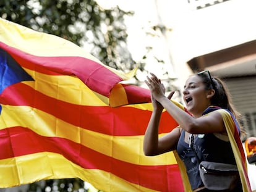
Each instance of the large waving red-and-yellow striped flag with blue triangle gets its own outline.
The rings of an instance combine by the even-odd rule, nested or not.
[[[78,177],[102,191],[184,191],[173,152],[143,155],[152,106],[122,84],[134,71],[0,19],[0,72],[0,188]],[[176,125],[164,111],[160,134]]]

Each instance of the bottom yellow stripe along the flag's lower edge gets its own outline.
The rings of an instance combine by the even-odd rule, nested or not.
[[[83,169],[60,154],[52,152],[2,159],[0,169],[0,188],[39,180],[79,177],[102,191],[155,191],[129,183],[103,170]]]

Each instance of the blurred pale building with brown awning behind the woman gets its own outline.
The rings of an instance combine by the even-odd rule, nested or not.
[[[169,48],[181,88],[187,76],[210,70],[224,78],[234,105],[256,136],[256,1],[156,0],[169,32]]]

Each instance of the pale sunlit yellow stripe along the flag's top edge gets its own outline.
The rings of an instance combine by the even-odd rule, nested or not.
[[[40,33],[30,28],[17,25],[0,18],[0,41],[11,47],[27,52],[34,56],[42,57],[85,57],[103,65],[98,59],[70,41],[58,36]],[[40,44],[40,46],[38,46]],[[136,69],[129,73],[123,73],[111,67],[103,65],[107,69],[119,75],[123,80],[134,77]]]

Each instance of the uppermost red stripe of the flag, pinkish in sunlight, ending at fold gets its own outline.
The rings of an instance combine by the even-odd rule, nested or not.
[[[0,42],[0,48],[6,50],[22,67],[48,75],[75,75],[91,90],[109,96],[111,89],[122,78],[106,69],[103,65],[85,57],[40,57]]]

